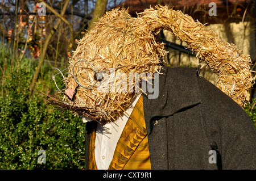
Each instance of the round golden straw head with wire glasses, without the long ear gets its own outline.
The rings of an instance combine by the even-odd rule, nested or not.
[[[109,92],[98,91],[100,82],[90,89],[80,87],[73,106],[94,110],[104,120],[115,120],[130,106],[135,92],[128,89],[126,92],[118,92],[119,90],[112,90],[113,86],[110,85],[113,81],[115,86],[122,81],[128,82],[129,73],[157,72],[165,53],[164,44],[158,42],[158,38],[142,18],[132,18],[125,9],[106,12],[95,27],[79,41],[69,61],[69,72],[72,73],[73,65],[77,61],[86,60],[93,64],[97,71],[125,66],[116,69],[115,73],[125,73],[127,79],[113,79],[109,76]],[[84,86],[93,85],[94,82],[94,71],[88,71],[89,69],[93,67],[85,62],[79,62],[74,69],[77,80]],[[131,82],[135,82],[134,79]],[[77,86],[72,75],[67,81],[68,88]]]

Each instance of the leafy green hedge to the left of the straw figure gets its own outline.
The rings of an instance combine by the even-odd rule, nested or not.
[[[81,117],[56,110],[39,91],[29,95],[35,69],[32,60],[15,63],[11,72],[10,61],[2,60],[0,65],[6,66],[6,74],[3,77],[0,72],[0,169],[83,169],[85,124]],[[49,70],[49,66],[43,69],[40,78],[45,81],[39,78],[36,86],[38,90],[44,87],[56,92],[49,81]],[[38,162],[39,150],[45,151],[46,163]]]

